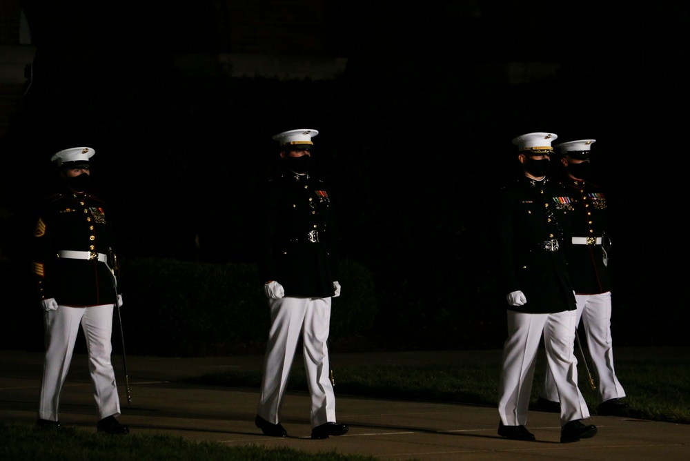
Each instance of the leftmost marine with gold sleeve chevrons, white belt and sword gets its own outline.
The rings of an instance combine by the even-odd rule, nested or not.
[[[126,434],[117,422],[120,402],[110,362],[112,313],[116,293],[115,239],[103,200],[90,195],[90,158],[95,150],[78,147],[51,157],[64,190],[50,195],[34,228],[32,270],[43,308],[46,355],[37,425],[60,426],[59,402],[79,326],[87,342],[88,367],[98,416],[97,429]]]

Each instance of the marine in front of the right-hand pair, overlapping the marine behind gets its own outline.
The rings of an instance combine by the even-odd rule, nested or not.
[[[575,295],[565,246],[571,236],[571,206],[565,188],[546,176],[553,133],[513,139],[523,173],[498,194],[495,248],[500,288],[506,297],[508,337],[499,381],[498,434],[535,440],[525,424],[535,361],[543,337],[546,360],[561,396],[561,442],[595,435],[578,389]]]

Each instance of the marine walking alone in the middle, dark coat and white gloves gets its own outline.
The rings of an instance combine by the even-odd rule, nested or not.
[[[302,338],[311,394],[311,438],[348,431],[335,416],[329,371],[331,299],[340,295],[331,188],[311,173],[313,129],[278,133],[282,169],[262,187],[259,277],[270,308],[264,375],[255,424],[285,437],[280,412],[297,344]]]

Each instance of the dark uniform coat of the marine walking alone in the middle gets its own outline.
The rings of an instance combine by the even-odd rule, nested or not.
[[[338,279],[331,190],[321,179],[287,170],[262,188],[259,277],[291,297],[330,297]]]

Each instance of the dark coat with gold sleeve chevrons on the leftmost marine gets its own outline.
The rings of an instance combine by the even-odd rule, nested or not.
[[[103,262],[57,257],[63,250],[115,254],[106,204],[88,194],[57,193],[34,229],[32,268],[39,300],[54,297],[66,306],[115,304],[110,268]],[[110,262],[112,267],[112,262]]]

